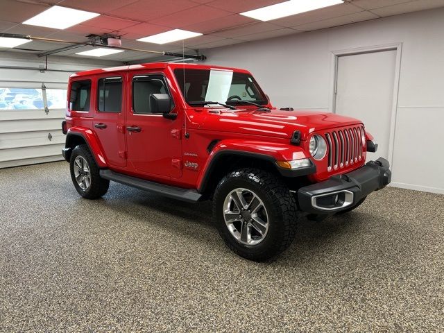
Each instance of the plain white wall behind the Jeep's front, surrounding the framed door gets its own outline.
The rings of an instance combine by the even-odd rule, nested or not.
[[[402,58],[392,185],[444,194],[444,8],[204,54],[208,63],[252,71],[277,106],[330,110],[332,52],[398,43]]]

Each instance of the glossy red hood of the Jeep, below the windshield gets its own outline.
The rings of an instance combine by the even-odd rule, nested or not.
[[[357,119],[325,111],[284,111],[277,108],[272,108],[271,112],[257,111],[257,108],[203,108],[196,111],[197,119],[192,122],[200,129],[281,138],[289,138],[295,130],[300,130],[302,139],[306,139],[318,130],[361,123]]]

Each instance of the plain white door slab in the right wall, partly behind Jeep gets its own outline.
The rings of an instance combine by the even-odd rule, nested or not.
[[[367,160],[388,158],[396,50],[339,56],[335,112],[364,122],[379,145]]]

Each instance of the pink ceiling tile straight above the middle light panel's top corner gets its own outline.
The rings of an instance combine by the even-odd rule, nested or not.
[[[212,19],[219,19],[220,17],[229,15],[230,12],[225,12],[225,10],[201,5],[160,17],[158,19],[153,19],[149,23],[169,26],[171,28],[183,28],[184,26],[189,26],[191,24],[206,22]]]

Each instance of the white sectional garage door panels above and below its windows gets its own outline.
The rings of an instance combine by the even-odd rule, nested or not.
[[[40,72],[44,58],[4,52],[0,53],[0,88],[42,89],[44,83],[48,89],[67,89],[72,73],[115,65],[121,62],[50,57],[49,70]],[[44,109],[0,110],[0,168],[62,160],[64,118],[65,108],[50,107],[47,114]]]

